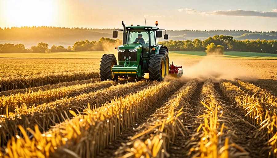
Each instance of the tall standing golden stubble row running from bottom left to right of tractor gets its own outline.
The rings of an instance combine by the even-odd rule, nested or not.
[[[30,150],[28,147],[34,142],[37,145],[43,144],[46,148],[45,150],[33,148],[35,151],[31,154],[50,154],[50,156],[57,156],[59,154],[69,154],[66,151],[70,149],[74,150],[81,157],[94,156],[100,149],[107,145],[109,140],[114,139],[118,135],[121,128],[127,128],[133,120],[141,115],[147,109],[148,105],[151,105],[161,98],[167,93],[167,90],[174,89],[179,84],[176,81],[162,82],[138,93],[130,94],[125,98],[115,98],[111,103],[106,103],[101,108],[85,109],[84,113],[86,115],[76,116],[71,111],[76,116],[74,119],[64,122],[56,128],[52,128],[45,135],[39,134],[39,131],[36,130],[37,134],[34,133],[32,140],[25,137],[25,141],[23,141],[25,148],[18,151],[18,154],[19,152]],[[50,138],[47,138],[47,136]],[[86,139],[82,139],[84,137]],[[22,141],[11,140],[9,143],[13,146],[21,144]],[[11,154],[11,151],[12,147],[6,149],[7,154]],[[53,151],[55,153],[52,153]],[[17,153],[13,152],[13,154]]]

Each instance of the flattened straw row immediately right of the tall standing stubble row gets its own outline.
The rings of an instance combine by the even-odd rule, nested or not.
[[[183,133],[179,116],[183,114],[183,106],[190,100],[197,87],[198,80],[191,79],[174,93],[164,106],[157,109],[147,119],[147,124],[136,128],[136,134],[116,151],[117,157],[167,157],[170,141],[174,141],[177,131]],[[159,145],[158,145],[159,144]]]

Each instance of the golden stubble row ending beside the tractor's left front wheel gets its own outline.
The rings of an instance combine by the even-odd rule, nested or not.
[[[103,81],[3,96],[0,97],[0,114],[8,116],[10,112],[19,113],[22,109],[36,107],[42,103],[49,103],[65,97],[75,97],[84,93],[95,92],[115,84],[112,81]]]

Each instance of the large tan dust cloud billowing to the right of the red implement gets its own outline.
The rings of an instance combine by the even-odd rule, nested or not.
[[[250,70],[244,69],[242,65],[232,63],[234,60],[206,56],[203,59],[199,59],[199,62],[190,65],[186,63],[188,60],[174,60],[174,65],[178,63],[183,66],[183,76],[180,79],[184,81],[198,78],[202,82],[211,78],[213,82],[217,83],[220,79],[234,81],[235,78],[239,78],[251,81],[256,78],[255,74],[251,73]]]

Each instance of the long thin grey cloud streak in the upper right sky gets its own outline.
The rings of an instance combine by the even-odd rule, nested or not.
[[[179,12],[185,11],[188,14],[213,14],[213,15],[227,15],[227,16],[258,16],[277,18],[277,9],[272,11],[257,11],[257,10],[217,10],[213,12],[202,12],[194,9],[178,9]]]

